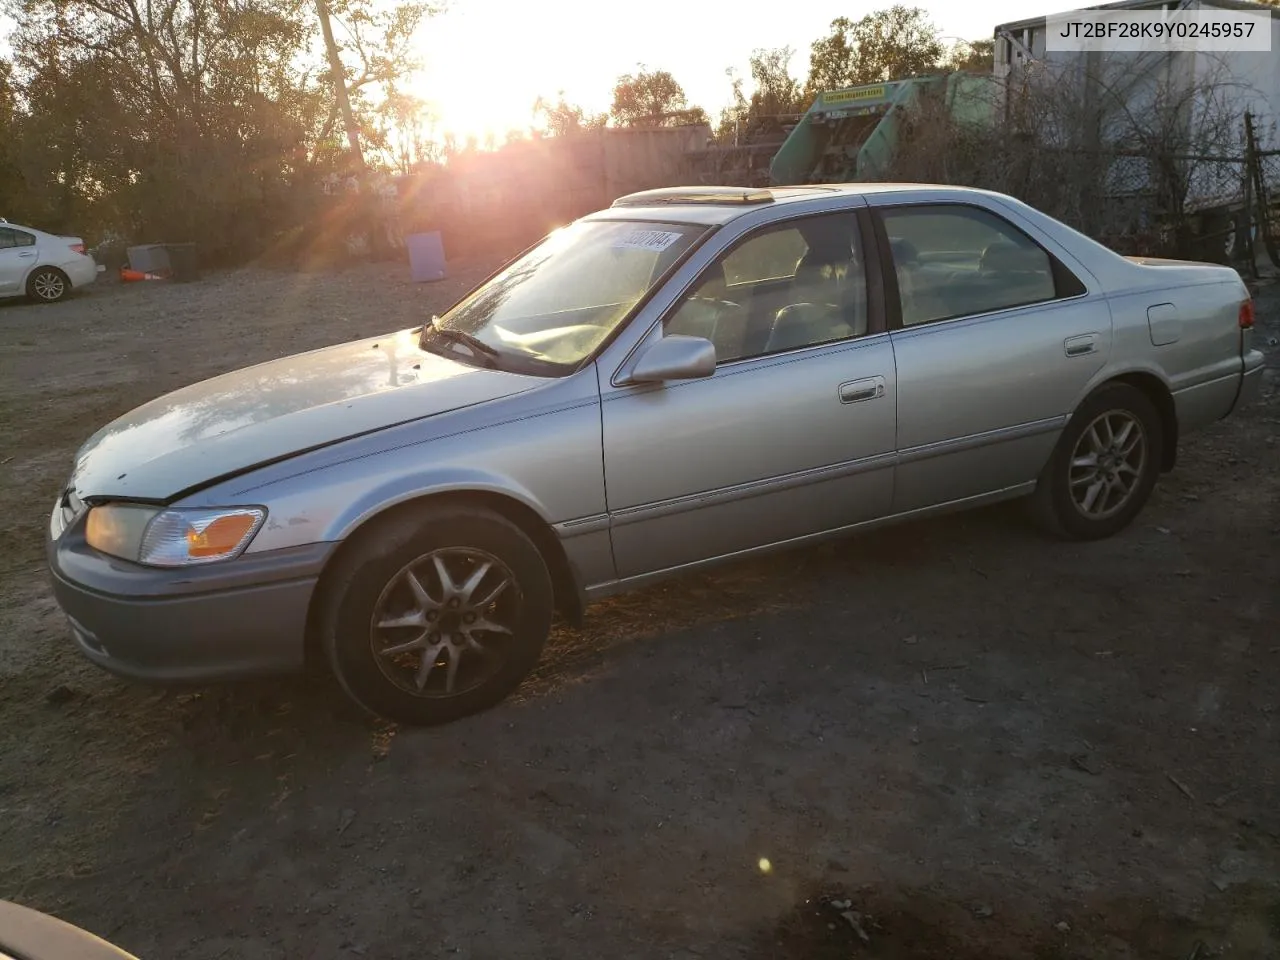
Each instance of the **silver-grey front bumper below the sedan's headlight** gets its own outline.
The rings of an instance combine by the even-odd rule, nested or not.
[[[333,544],[180,570],[84,543],[83,517],[47,543],[54,595],[93,663],[136,680],[216,681],[302,667],[307,612]]]

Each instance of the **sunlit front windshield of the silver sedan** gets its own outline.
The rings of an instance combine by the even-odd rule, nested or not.
[[[424,333],[476,362],[564,372],[591,356],[705,230],[586,220],[547,237]]]

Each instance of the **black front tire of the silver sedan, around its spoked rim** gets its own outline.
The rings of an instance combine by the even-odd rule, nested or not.
[[[454,586],[456,577],[470,579],[489,564],[490,572],[471,590],[474,599],[499,580],[508,586],[483,607],[460,600],[458,609],[449,611],[436,557]],[[431,603],[439,603],[434,611],[410,580],[431,594]],[[553,614],[550,573],[532,540],[497,513],[462,506],[397,512],[375,524],[326,571],[321,589],[320,640],[343,690],[370,713],[415,726],[448,723],[506,699],[538,663]],[[388,612],[394,616],[387,617]],[[419,616],[438,620],[375,630],[375,614],[384,625]],[[471,626],[463,625],[465,617],[471,617]],[[509,635],[485,630],[489,623]],[[416,643],[419,626],[428,637],[422,646],[385,653],[388,646]],[[433,626],[435,632],[430,632]],[[449,637],[458,649],[438,646]],[[472,640],[479,645],[468,645]],[[383,653],[375,653],[375,646]],[[426,666],[428,660],[434,666]],[[463,667],[471,671],[465,677]],[[440,689],[444,685],[447,690]]]

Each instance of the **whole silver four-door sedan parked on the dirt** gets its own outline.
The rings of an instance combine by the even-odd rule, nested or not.
[[[369,710],[509,694],[556,612],[1018,497],[1124,529],[1258,389],[1228,268],[1126,259],[1006,196],[650,191],[422,326],[155,399],[49,529],[86,657],[214,680],[324,657]]]

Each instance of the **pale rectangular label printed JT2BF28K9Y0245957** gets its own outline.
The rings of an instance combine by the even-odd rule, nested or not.
[[[1044,28],[1050,52],[1271,51],[1271,14],[1247,10],[1073,10]]]

